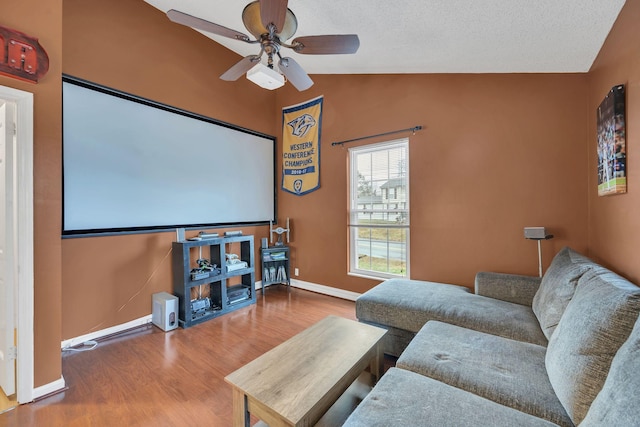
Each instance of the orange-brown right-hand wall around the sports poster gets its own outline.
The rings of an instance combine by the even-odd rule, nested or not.
[[[627,1],[589,73],[589,253],[640,283],[640,2]],[[598,197],[596,110],[626,85],[627,193]]]

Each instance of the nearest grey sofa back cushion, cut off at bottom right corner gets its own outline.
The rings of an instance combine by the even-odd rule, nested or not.
[[[602,390],[580,427],[632,426],[640,422],[640,322],[611,361]]]

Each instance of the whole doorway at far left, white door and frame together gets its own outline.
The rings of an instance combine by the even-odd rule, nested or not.
[[[34,395],[33,94],[0,86],[0,124],[0,386],[16,404]]]

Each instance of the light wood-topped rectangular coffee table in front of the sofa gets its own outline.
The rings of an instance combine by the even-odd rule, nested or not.
[[[385,333],[329,316],[229,374],[233,425],[248,427],[249,414],[270,427],[315,424],[367,367],[380,378]]]

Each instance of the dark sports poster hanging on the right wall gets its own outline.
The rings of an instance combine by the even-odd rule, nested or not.
[[[598,107],[598,196],[627,192],[624,85],[611,88]]]

